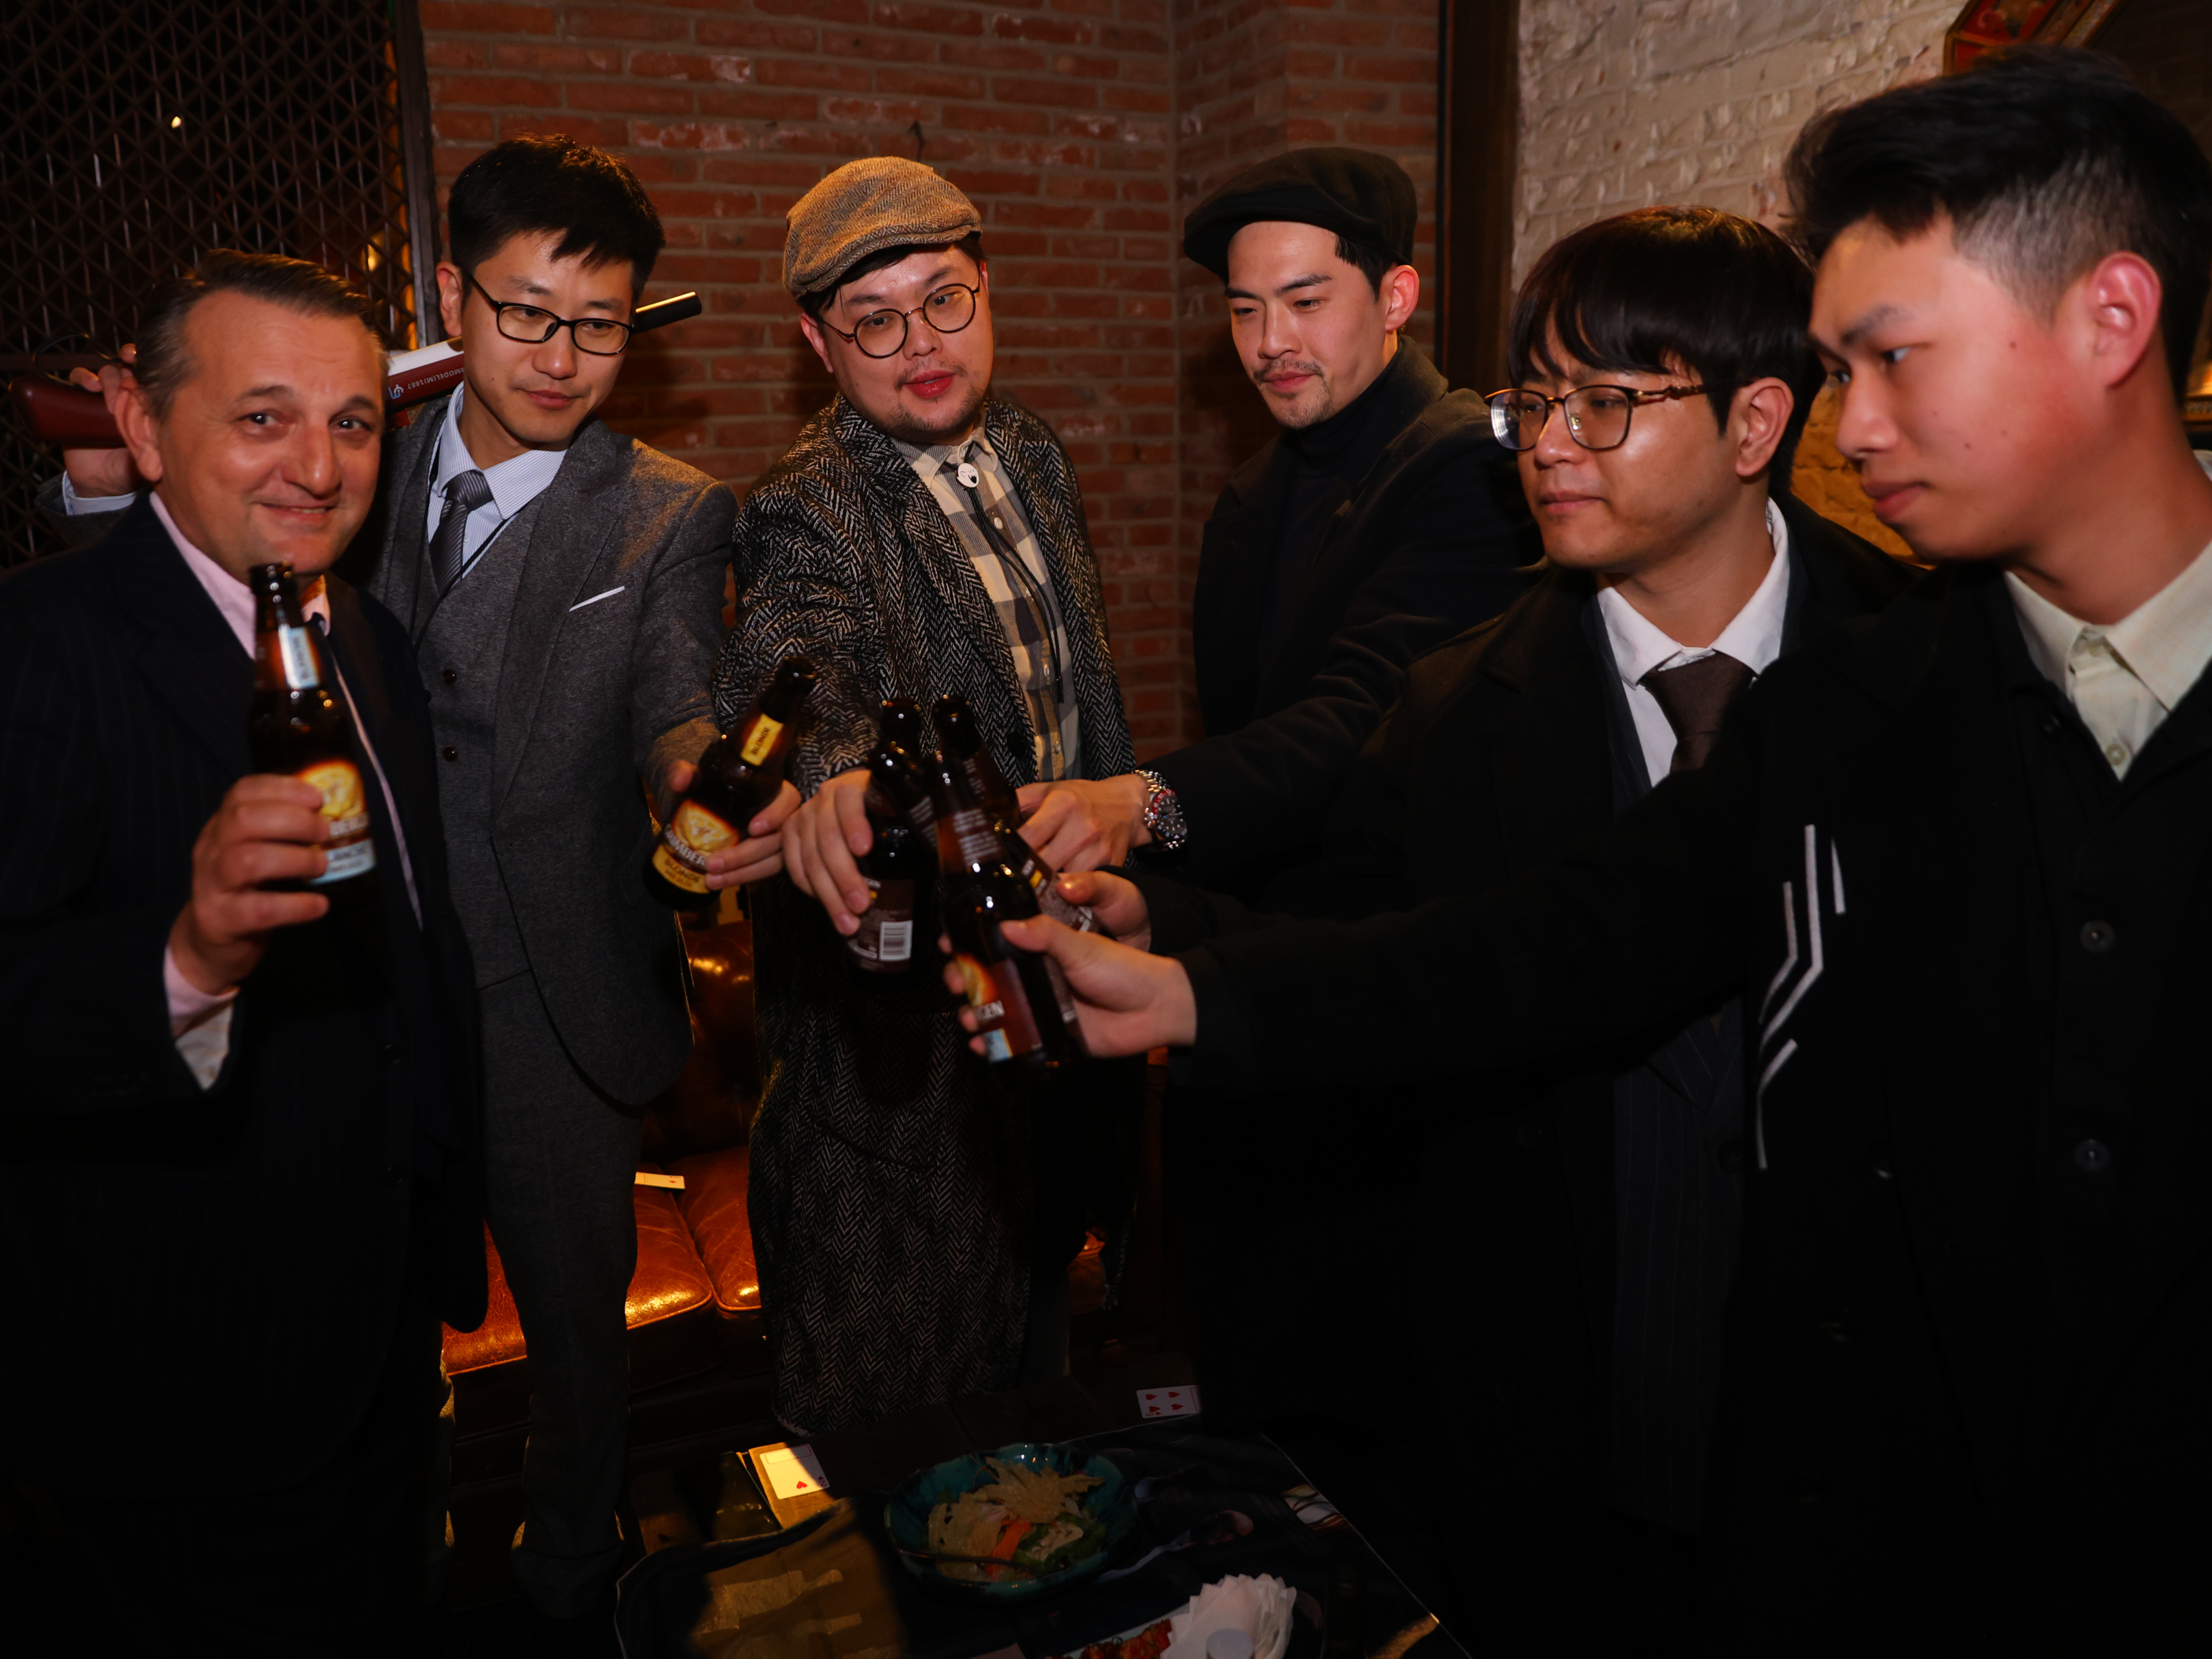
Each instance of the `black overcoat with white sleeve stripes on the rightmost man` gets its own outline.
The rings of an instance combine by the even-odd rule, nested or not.
[[[1542,872],[1183,956],[1186,1071],[1256,1088],[1462,1077],[1743,989],[1717,1652],[2212,1639],[2212,697],[2190,690],[2062,867],[2037,743],[2090,739],[1997,573],[1953,571],[1776,664],[1703,770]],[[1460,1088],[1467,1115],[1511,1108]]]

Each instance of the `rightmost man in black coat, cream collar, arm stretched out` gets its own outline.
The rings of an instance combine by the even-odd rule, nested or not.
[[[2110,64],[2024,51],[1820,117],[1790,179],[1838,442],[1947,568],[1511,889],[1051,947],[1095,1053],[1194,1042],[1261,1088],[1741,989],[1705,1646],[2199,1650],[2212,480],[2177,396],[2212,164]]]

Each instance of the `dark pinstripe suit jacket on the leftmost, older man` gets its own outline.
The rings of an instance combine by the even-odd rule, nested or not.
[[[440,1314],[482,1318],[473,975],[429,714],[398,624],[338,580],[330,613],[422,927],[378,812],[383,907],[274,936],[201,1091],[161,951],[250,770],[252,664],[144,500],[0,582],[0,1433],[27,1455],[157,1449],[166,1480],[228,1489],[312,1469],[383,1367],[411,1225]],[[427,1164],[442,1179],[414,1183]]]

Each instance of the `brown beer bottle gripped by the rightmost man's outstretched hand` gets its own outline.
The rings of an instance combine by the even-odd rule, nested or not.
[[[1048,956],[1009,945],[998,927],[1037,914],[1029,883],[1006,863],[1006,847],[991,814],[967,779],[940,759],[929,779],[938,814],[938,869],[945,931],[953,964],[975,1009],[984,1053],[993,1062],[1060,1068],[1082,1060],[1075,998]]]

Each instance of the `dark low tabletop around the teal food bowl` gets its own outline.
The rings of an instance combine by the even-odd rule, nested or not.
[[[1159,1363],[1141,1378],[1181,1380],[1186,1371]],[[1272,1440],[1208,1433],[1203,1418],[1146,1422],[1137,1387],[1126,1376],[1057,1378],[823,1436],[814,1451],[838,1502],[787,1531],[774,1528],[734,1453],[679,1471],[675,1491],[697,1526],[664,1526],[677,1542],[624,1577],[628,1659],[1053,1659],[1164,1619],[1232,1573],[1274,1575],[1298,1593],[1285,1659],[1409,1659],[1416,1648],[1413,1659],[1464,1659]],[[885,1542],[885,1493],[964,1451],[1042,1440],[1079,1440],[1130,1482],[1148,1482],[1108,1573],[1223,1511],[1250,1531],[1026,1604],[975,1606],[918,1584]]]

